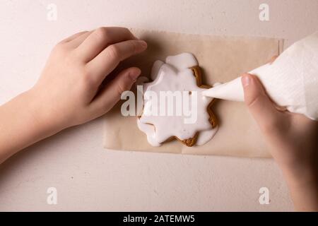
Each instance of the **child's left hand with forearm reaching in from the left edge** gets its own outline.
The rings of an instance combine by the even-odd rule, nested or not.
[[[0,164],[28,145],[108,112],[141,73],[120,61],[147,48],[126,28],[81,32],[54,47],[36,85],[0,107]]]

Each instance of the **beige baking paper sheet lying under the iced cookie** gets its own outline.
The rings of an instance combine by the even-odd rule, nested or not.
[[[157,59],[190,52],[203,71],[204,84],[227,82],[241,73],[265,64],[281,53],[283,40],[265,37],[216,37],[173,32],[132,30],[136,37],[148,42],[148,50],[122,63],[121,68],[139,66],[142,76],[149,76]],[[105,148],[191,155],[228,155],[237,157],[270,157],[257,124],[242,102],[217,100],[213,112],[219,124],[218,133],[206,145],[192,148],[179,141],[161,147],[148,144],[146,134],[139,131],[136,117],[123,117],[122,102],[105,115]]]

